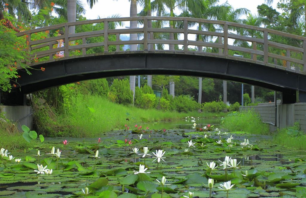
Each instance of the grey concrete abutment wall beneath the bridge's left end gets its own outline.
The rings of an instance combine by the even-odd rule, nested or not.
[[[32,129],[33,117],[31,106],[0,106],[0,112],[5,113],[6,119],[15,122],[19,131],[22,131],[21,126],[26,125]]]

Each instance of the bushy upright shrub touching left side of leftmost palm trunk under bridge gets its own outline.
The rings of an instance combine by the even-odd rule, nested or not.
[[[128,80],[114,79],[110,86],[108,98],[115,103],[129,105],[133,100],[133,92],[130,90]]]

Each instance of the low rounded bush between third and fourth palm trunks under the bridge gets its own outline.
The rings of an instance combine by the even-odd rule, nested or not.
[[[201,105],[188,95],[180,95],[174,98],[176,110],[178,112],[189,112],[199,110]]]

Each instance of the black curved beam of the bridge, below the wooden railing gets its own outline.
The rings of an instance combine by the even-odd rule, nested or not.
[[[306,102],[304,72],[256,61],[246,62],[240,57],[204,55],[184,51],[106,52],[95,55],[70,56],[31,65],[32,75],[20,71],[17,95],[89,79],[127,75],[186,75],[211,77],[257,85],[282,92],[283,103]],[[41,67],[45,71],[40,70]],[[17,90],[17,91],[16,91]],[[21,90],[21,92],[20,92]],[[21,97],[22,98],[22,97]],[[24,97],[23,97],[24,98]],[[14,101],[23,103],[23,101]]]

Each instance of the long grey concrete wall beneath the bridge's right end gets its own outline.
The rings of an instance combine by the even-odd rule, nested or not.
[[[240,110],[254,110],[260,114],[263,122],[275,124],[274,103],[261,103],[258,106],[243,106]],[[306,132],[306,103],[277,104],[277,127],[285,128],[293,126],[295,122],[300,123],[301,130]],[[269,124],[270,131],[276,127]]]

